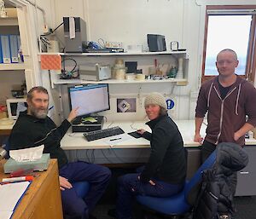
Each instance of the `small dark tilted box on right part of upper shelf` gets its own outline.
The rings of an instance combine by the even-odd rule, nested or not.
[[[148,49],[150,52],[166,51],[166,38],[163,35],[148,34]]]

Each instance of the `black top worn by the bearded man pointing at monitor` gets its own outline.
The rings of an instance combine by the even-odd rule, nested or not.
[[[67,156],[61,149],[61,138],[65,135],[70,123],[65,119],[59,127],[49,118],[39,119],[26,112],[20,112],[9,137],[10,150],[36,147],[44,144],[44,153],[50,158],[57,158],[59,169],[67,164]]]

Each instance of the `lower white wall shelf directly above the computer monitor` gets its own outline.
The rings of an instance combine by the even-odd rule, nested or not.
[[[177,83],[180,85],[187,84],[187,79],[176,79],[176,78],[168,78],[162,80],[116,80],[109,79],[103,81],[85,81],[80,79],[59,79],[54,82],[54,84],[148,84],[148,83]]]

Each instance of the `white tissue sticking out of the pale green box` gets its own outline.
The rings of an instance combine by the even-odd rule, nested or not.
[[[44,145],[20,150],[10,150],[9,156],[18,162],[34,161],[42,157]]]

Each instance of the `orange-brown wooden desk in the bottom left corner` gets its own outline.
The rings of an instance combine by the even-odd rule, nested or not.
[[[0,181],[9,176],[3,174],[0,163]],[[56,159],[51,159],[48,170],[39,172],[16,207],[12,219],[63,219],[61,190]],[[0,199],[4,199],[1,197]]]

